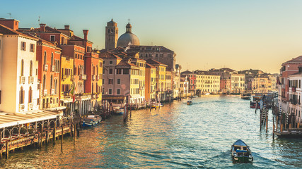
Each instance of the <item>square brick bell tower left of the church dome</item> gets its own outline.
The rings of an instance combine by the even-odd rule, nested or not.
[[[105,31],[105,49],[107,51],[115,49],[117,47],[117,38],[119,35],[117,23],[111,19],[111,21],[107,23]]]

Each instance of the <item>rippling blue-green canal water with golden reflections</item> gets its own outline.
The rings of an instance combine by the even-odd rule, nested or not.
[[[301,168],[301,139],[272,139],[260,131],[259,111],[239,96],[202,96],[157,110],[132,111],[81,130],[42,149],[24,149],[0,160],[0,168]],[[253,163],[232,163],[231,144],[250,146]]]

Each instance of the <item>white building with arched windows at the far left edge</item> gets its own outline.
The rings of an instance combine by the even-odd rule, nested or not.
[[[11,20],[17,25],[18,20]],[[0,111],[38,110],[39,89],[35,37],[0,25]]]

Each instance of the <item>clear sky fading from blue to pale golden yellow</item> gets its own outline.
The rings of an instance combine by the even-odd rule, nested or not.
[[[279,73],[281,63],[302,55],[300,0],[8,1],[0,18],[19,27],[64,28],[105,48],[105,26],[112,18],[119,36],[130,19],[142,45],[175,51],[182,70],[232,68]],[[8,13],[11,13],[9,15]]]

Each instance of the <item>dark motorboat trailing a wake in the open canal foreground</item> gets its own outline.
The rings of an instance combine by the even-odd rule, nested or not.
[[[238,139],[231,146],[231,155],[233,161],[238,163],[248,163],[254,160],[252,152],[250,151],[250,146],[245,144],[241,139]]]

